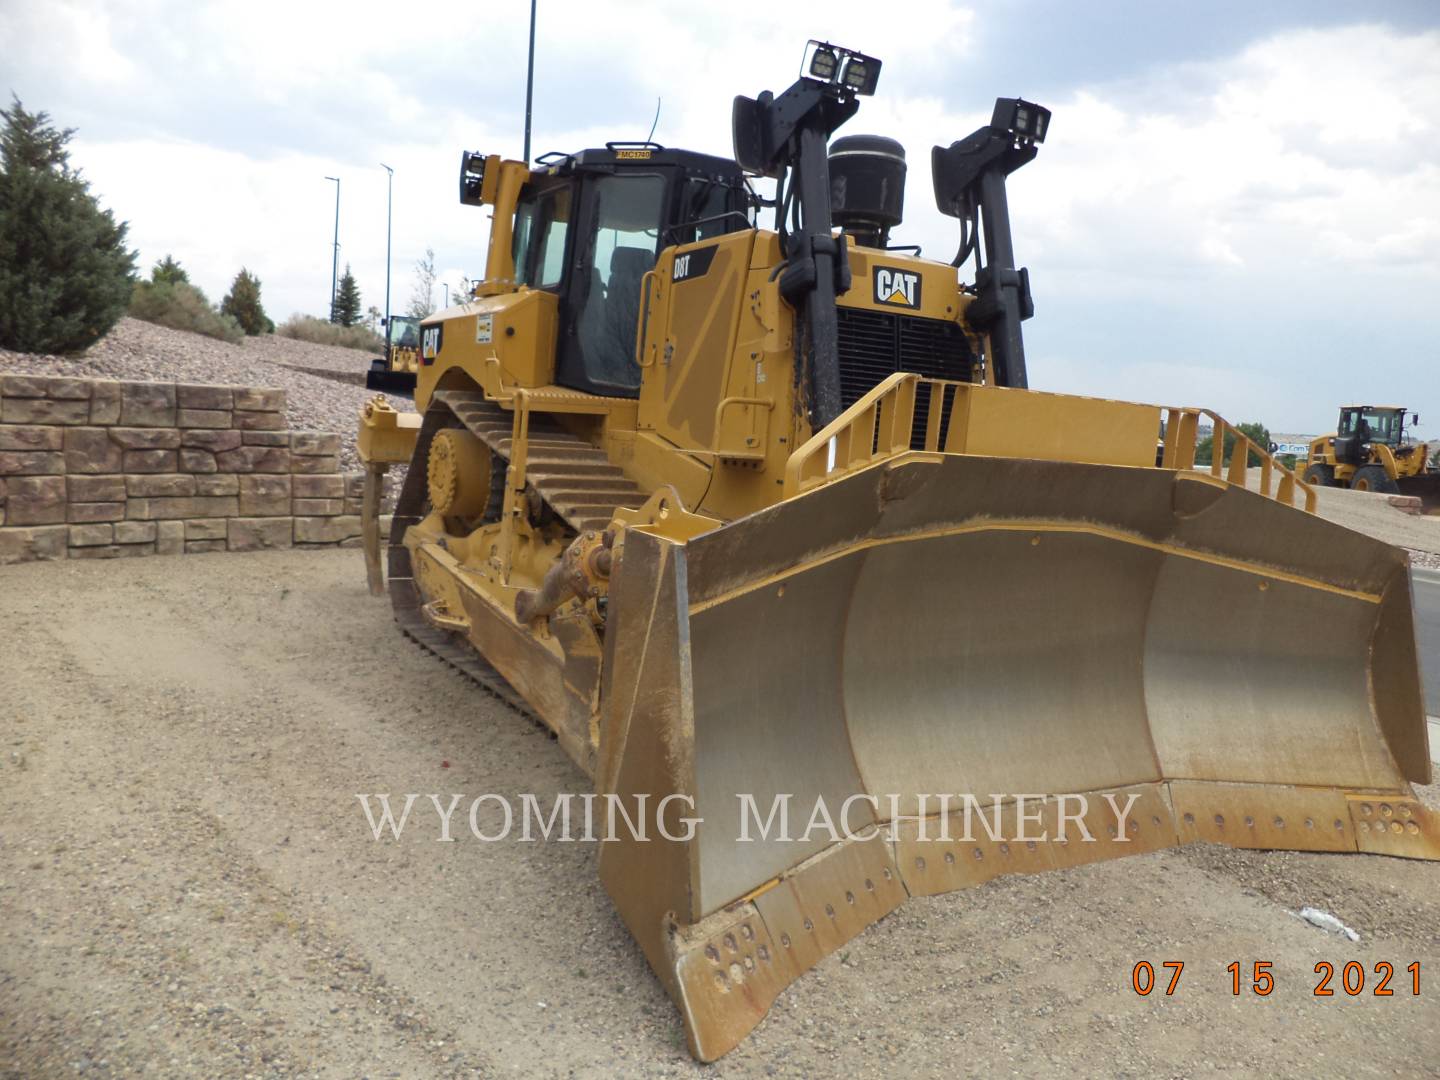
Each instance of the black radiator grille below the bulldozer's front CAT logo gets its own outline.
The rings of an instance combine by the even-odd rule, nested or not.
[[[845,409],[896,372],[971,380],[971,346],[958,323],[847,307],[835,314],[840,323],[840,403]],[[917,449],[924,445],[929,406],[930,387],[922,383],[910,442]]]

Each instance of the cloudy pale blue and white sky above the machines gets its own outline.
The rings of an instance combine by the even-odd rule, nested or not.
[[[340,265],[384,310],[416,261],[484,266],[462,150],[518,158],[528,4],[0,0],[0,91],[78,134],[72,161],[215,300],[240,266],[269,314],[325,314]],[[730,153],[736,94],[782,91],[806,39],[878,56],[838,134],[910,158],[893,242],[949,261],[929,150],[996,96],[1053,109],[1011,177],[1031,386],[1198,405],[1273,432],[1349,402],[1440,438],[1440,4],[829,0],[760,9],[539,0],[536,154],[654,138]],[[436,301],[444,300],[436,291]]]

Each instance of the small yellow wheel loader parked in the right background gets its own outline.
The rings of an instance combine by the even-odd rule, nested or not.
[[[1333,435],[1310,441],[1305,481],[1318,487],[1351,487],[1387,495],[1418,495],[1426,513],[1440,513],[1440,471],[1431,469],[1431,446],[1405,438],[1403,406],[1346,405]],[[1420,415],[1411,413],[1418,425]]]

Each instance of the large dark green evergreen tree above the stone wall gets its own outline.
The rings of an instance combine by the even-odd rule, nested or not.
[[[78,353],[125,312],[135,275],[128,226],[71,168],[73,128],[19,98],[0,109],[0,347]]]

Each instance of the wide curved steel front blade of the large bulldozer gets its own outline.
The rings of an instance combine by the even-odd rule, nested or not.
[[[1440,857],[1405,556],[1259,494],[907,454],[621,543],[598,783],[681,798],[600,874],[700,1058],[909,894],[1191,841]]]

